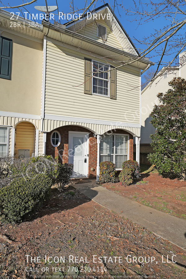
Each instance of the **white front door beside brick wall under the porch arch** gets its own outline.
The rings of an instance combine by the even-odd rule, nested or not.
[[[87,176],[87,139],[83,132],[69,132],[69,163],[73,164],[72,177]]]

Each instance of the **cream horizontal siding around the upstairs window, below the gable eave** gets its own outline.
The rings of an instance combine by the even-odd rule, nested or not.
[[[117,100],[86,95],[84,56],[47,42],[45,114],[139,124],[139,71],[117,69]]]

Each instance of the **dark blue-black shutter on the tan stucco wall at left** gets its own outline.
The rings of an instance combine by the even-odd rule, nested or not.
[[[0,38],[0,78],[10,79],[12,40]]]

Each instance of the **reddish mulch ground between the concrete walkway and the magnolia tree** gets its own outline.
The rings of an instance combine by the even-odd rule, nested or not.
[[[186,181],[164,178],[156,173],[142,173],[139,180],[129,186],[120,182],[101,185],[123,197],[186,220]]]

